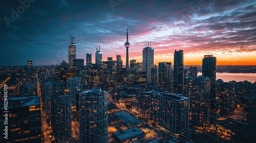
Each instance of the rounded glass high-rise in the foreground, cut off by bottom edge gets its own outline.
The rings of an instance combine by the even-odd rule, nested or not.
[[[108,142],[108,94],[93,87],[79,95],[79,142]]]

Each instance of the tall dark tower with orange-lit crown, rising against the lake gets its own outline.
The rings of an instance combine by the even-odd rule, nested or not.
[[[204,56],[202,75],[210,79],[210,113],[216,113],[216,57],[212,55]]]

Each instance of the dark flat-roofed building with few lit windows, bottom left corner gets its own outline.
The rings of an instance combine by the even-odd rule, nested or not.
[[[0,111],[3,113],[4,107]],[[9,98],[8,111],[8,139],[3,138],[2,122],[0,142],[41,142],[40,97]]]

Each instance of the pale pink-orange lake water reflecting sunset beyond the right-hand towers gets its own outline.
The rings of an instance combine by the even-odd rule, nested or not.
[[[198,73],[198,76],[201,76],[202,73]],[[256,73],[217,73],[216,79],[222,79],[224,82],[229,81],[249,81],[254,83],[256,81]]]

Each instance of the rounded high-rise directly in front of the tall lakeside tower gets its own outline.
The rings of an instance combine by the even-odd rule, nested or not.
[[[210,80],[199,76],[192,82],[190,100],[191,125],[205,127],[210,122]]]

